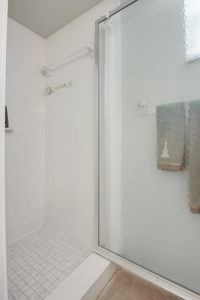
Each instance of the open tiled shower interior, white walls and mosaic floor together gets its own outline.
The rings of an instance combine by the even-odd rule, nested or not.
[[[0,182],[2,300],[45,299],[92,253],[92,24],[105,5],[112,10],[119,1],[104,1],[92,7],[47,38],[10,17],[7,20],[5,12],[7,57],[3,57],[1,73],[5,89],[0,89],[3,173],[5,164]],[[109,262],[104,268],[113,265]]]

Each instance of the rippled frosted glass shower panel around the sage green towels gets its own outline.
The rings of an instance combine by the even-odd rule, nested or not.
[[[185,105],[200,99],[200,30],[188,38],[187,2],[138,0],[99,24],[99,245],[200,293],[200,215],[188,207],[187,169],[157,167],[157,107],[184,103],[174,107],[187,118]]]

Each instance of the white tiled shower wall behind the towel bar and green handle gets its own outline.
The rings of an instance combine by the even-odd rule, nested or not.
[[[105,0],[45,40],[46,65],[94,42],[94,22],[119,0]],[[45,224],[94,246],[95,59],[82,53],[46,77],[46,86],[69,80],[45,97]]]

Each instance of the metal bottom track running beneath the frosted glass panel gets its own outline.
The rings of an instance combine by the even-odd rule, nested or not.
[[[187,290],[186,288],[169,281],[151,271],[144,269],[143,267],[138,266],[137,264],[128,261],[127,259],[118,256],[117,254],[108,251],[100,246],[95,246],[93,249],[94,252],[108,258],[112,262],[117,263],[121,267],[126,268],[128,271],[133,272],[139,277],[146,279],[159,287],[164,288],[165,290],[172,292],[173,294],[182,297],[185,300],[200,300],[200,295]]]

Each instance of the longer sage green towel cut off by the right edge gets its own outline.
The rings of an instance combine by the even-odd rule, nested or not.
[[[189,129],[189,206],[200,213],[200,100],[189,102]]]

